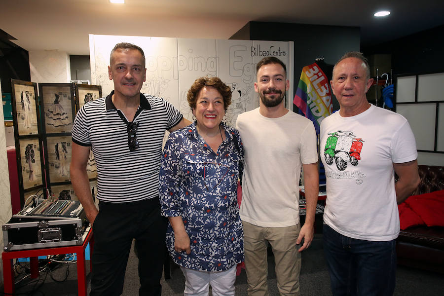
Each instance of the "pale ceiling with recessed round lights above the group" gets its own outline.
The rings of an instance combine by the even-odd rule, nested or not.
[[[373,17],[381,9],[392,14]],[[88,34],[227,39],[249,21],[356,26],[372,45],[444,24],[444,1],[0,0],[14,43],[72,55],[89,55]]]

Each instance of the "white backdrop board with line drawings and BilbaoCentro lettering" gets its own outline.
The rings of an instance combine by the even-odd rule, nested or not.
[[[108,77],[111,49],[118,42],[139,45],[147,60],[147,81],[142,92],[163,97],[178,108],[186,118],[192,113],[186,92],[200,76],[219,76],[231,87],[232,103],[226,122],[234,126],[237,115],[259,107],[254,91],[256,63],[265,56],[276,56],[287,66],[291,81],[287,108],[293,102],[293,42],[215,40],[162,37],[90,35],[91,80],[102,85],[103,95],[113,89]]]

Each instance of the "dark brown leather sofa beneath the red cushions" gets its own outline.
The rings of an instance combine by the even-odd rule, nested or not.
[[[421,183],[411,195],[444,189],[444,167],[420,165]],[[444,273],[444,227],[426,225],[401,230],[396,243],[398,264]]]

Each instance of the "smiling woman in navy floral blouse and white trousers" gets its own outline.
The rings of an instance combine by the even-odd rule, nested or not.
[[[160,168],[160,203],[168,217],[166,244],[185,275],[185,295],[234,295],[243,261],[237,205],[244,150],[222,118],[231,91],[218,77],[200,77],[187,93],[194,123],[170,134]]]

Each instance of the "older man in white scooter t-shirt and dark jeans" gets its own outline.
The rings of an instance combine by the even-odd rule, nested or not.
[[[369,104],[372,81],[367,59],[346,53],[331,81],[340,110],[321,123],[324,252],[333,296],[393,294],[397,203],[419,184],[410,126],[402,115]]]

